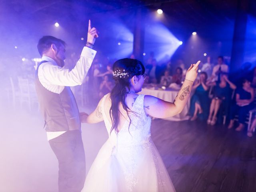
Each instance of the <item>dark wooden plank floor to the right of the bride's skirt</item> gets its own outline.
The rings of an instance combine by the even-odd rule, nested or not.
[[[152,138],[177,192],[256,192],[256,136],[200,121],[158,119]],[[250,154],[254,160],[244,160]]]

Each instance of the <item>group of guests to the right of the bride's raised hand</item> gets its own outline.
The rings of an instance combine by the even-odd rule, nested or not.
[[[223,57],[218,57],[218,64],[211,67],[210,58],[201,68],[199,78],[193,85],[194,94],[190,102],[190,120],[206,120],[207,124],[215,125],[223,117],[230,120],[228,129],[234,127],[238,118],[236,131],[242,131],[246,125],[246,116],[256,107],[254,92],[256,88],[255,71],[247,71],[236,84],[228,78],[228,65],[223,63]],[[208,78],[208,74],[211,74]],[[248,129],[247,135],[252,136],[256,126],[256,118]]]

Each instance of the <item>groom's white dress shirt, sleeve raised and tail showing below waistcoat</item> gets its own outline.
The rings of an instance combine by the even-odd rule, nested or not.
[[[50,57],[42,56],[42,61],[48,62],[44,62],[39,66],[38,79],[44,88],[50,92],[60,94],[65,86],[77,86],[83,83],[95,55],[95,50],[84,47],[80,59],[72,70],[58,66]],[[46,132],[47,139],[51,140],[65,132]]]

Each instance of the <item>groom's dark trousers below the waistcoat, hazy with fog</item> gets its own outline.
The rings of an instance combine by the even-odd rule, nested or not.
[[[59,192],[81,192],[86,176],[81,131],[67,131],[49,143],[59,162]]]

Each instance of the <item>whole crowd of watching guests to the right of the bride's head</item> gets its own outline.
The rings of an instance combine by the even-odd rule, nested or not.
[[[156,63],[154,55],[146,61],[146,73],[148,77],[145,83],[154,83],[179,90],[184,81],[186,69],[182,60],[178,60],[178,65],[173,71],[171,62],[162,66]],[[207,57],[207,62],[201,65],[200,73],[194,82],[190,100],[190,120],[205,120],[209,125],[222,123],[229,120],[228,129],[234,128],[235,118],[238,119],[236,131],[242,131],[246,125],[248,112],[256,107],[254,91],[256,88],[256,68],[250,71],[240,71],[239,76],[230,80],[229,67],[224,63],[224,58],[219,56],[217,64],[212,64],[211,58]],[[242,75],[241,75],[242,74]],[[225,119],[225,120],[224,120]],[[256,118],[252,126],[248,129],[248,136],[252,136],[252,131],[256,126]]]

